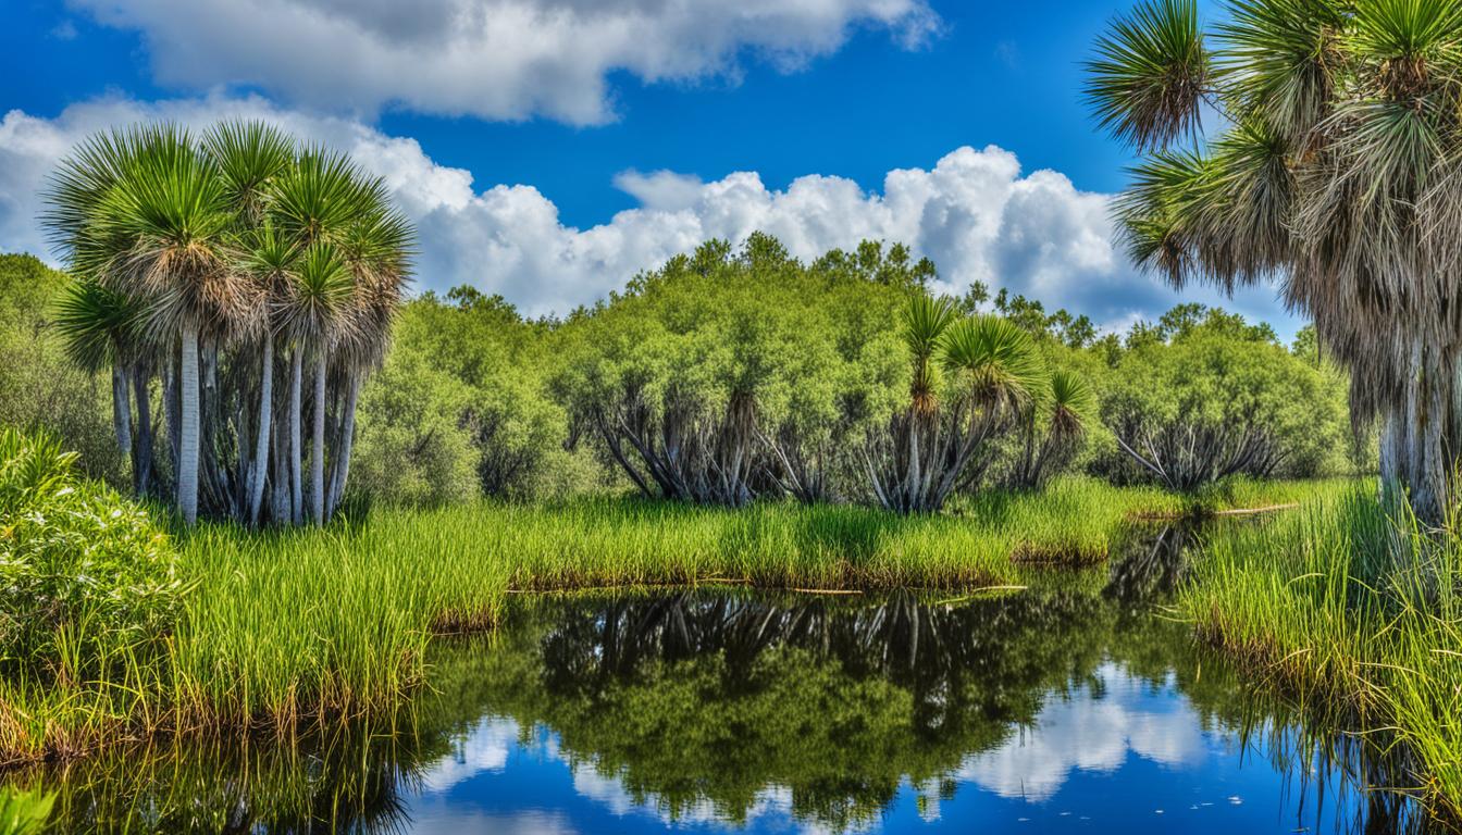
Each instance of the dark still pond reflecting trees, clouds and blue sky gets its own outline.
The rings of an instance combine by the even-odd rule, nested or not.
[[[516,597],[390,727],[10,775],[57,832],[1393,832],[1352,737],[1162,602],[1178,529],[1025,591]]]

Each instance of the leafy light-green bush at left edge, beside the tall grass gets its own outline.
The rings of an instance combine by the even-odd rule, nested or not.
[[[146,510],[83,481],[45,433],[0,433],[0,662],[104,677],[171,629],[183,583]]]

